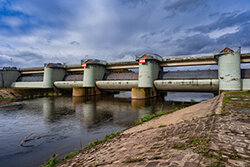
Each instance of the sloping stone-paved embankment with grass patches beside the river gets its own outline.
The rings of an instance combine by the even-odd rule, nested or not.
[[[130,128],[58,166],[247,166],[249,99],[249,92],[221,94]]]

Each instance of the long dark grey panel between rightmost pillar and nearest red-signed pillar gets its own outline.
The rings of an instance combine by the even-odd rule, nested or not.
[[[168,71],[159,79],[218,79],[218,70]]]

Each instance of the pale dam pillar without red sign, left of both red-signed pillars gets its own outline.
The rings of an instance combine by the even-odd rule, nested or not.
[[[64,66],[60,63],[44,64],[43,86],[53,88],[55,81],[62,81],[66,74]]]

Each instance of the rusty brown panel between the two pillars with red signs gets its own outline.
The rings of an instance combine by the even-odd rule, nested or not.
[[[138,80],[138,73],[111,73],[106,80]]]

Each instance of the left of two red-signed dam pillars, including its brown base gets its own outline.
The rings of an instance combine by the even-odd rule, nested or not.
[[[95,82],[102,80],[106,72],[106,62],[97,59],[82,60],[84,68],[83,87],[73,88],[73,96],[92,96],[101,94]]]

